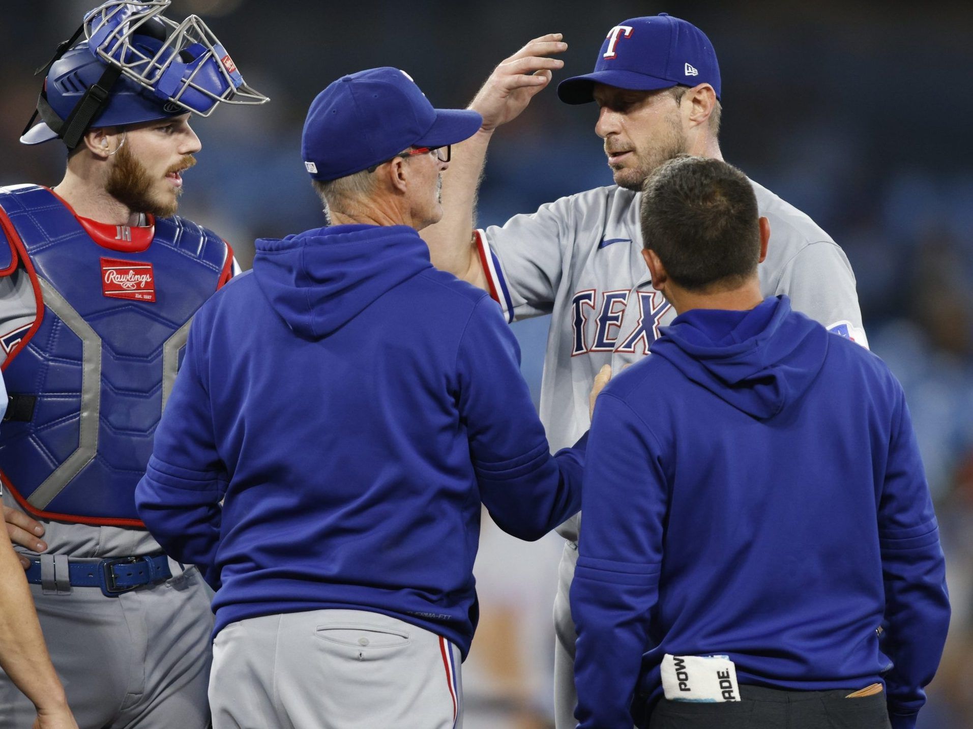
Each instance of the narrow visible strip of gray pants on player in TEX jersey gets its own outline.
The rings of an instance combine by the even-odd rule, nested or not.
[[[578,720],[574,710],[578,706],[578,693],[574,688],[574,644],[578,634],[571,618],[571,580],[578,564],[578,545],[565,541],[564,552],[558,567],[558,595],[554,599],[554,629],[557,639],[554,646],[554,721],[556,729],[574,729]]]

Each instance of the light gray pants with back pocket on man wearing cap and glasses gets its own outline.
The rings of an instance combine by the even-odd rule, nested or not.
[[[459,661],[445,638],[375,612],[241,620],[213,642],[213,729],[462,727]]]

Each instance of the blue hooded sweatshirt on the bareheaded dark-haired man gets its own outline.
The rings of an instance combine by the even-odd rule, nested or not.
[[[631,729],[668,653],[728,655],[740,684],[882,681],[892,726],[912,727],[950,607],[901,385],[786,297],[663,332],[595,407],[571,588],[580,726]]]

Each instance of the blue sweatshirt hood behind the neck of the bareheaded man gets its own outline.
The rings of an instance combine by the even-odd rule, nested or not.
[[[662,332],[653,354],[756,419],[774,418],[801,398],[829,341],[824,327],[792,313],[786,296],[746,311],[687,311]]]

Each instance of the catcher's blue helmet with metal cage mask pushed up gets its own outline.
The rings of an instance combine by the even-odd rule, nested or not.
[[[110,0],[85,16],[45,73],[37,112],[20,141],[60,137],[74,149],[91,127],[118,127],[193,112],[220,102],[261,104],[212,31],[196,16],[162,16],[171,0]],[[75,45],[81,35],[85,39]],[[31,128],[40,114],[43,124]]]

